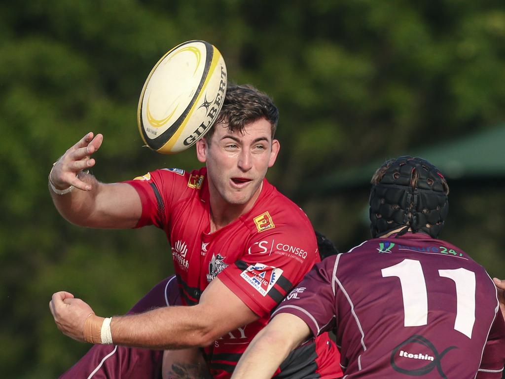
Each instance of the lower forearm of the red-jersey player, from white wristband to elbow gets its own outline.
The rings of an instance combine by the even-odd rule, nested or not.
[[[113,317],[112,340],[118,345],[163,350],[208,346],[220,336],[197,307],[164,307]]]

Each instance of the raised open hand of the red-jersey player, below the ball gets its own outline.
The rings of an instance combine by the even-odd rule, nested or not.
[[[91,155],[102,146],[103,140],[102,134],[96,134],[93,138],[93,132],[87,133],[55,163],[49,174],[49,180],[58,189],[73,185],[83,191],[90,191],[91,185],[80,180],[77,174],[94,166],[95,160]]]

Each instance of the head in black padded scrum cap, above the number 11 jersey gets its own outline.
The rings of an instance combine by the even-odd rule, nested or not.
[[[371,182],[373,238],[396,229],[400,235],[411,230],[437,238],[449,210],[449,187],[440,170],[421,158],[398,157],[379,167]]]

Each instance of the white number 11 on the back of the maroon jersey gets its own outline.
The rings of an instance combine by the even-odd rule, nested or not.
[[[456,285],[456,320],[454,328],[472,338],[475,323],[475,273],[465,268],[438,270],[440,277],[451,279]],[[400,279],[403,298],[403,326],[421,326],[428,323],[428,294],[421,262],[404,259],[382,269],[382,276]]]

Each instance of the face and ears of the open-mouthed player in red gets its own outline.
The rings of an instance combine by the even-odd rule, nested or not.
[[[245,132],[230,132],[227,124],[215,126],[207,143],[196,145],[197,157],[206,162],[211,196],[223,205],[254,203],[267,169],[275,163],[279,141],[272,139],[271,124],[262,118],[245,126]]]

